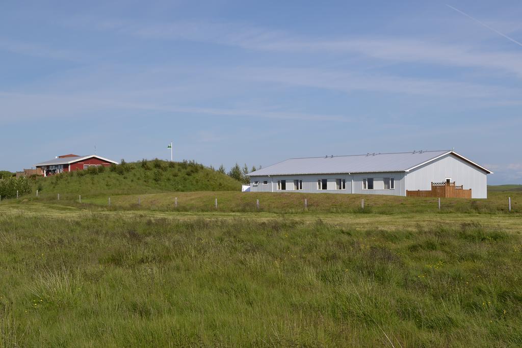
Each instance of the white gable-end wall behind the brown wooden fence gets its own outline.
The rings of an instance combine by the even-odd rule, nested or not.
[[[472,198],[488,198],[487,175],[476,166],[448,154],[406,174],[407,190],[431,190],[431,183],[443,183],[452,178],[456,185],[471,188]]]

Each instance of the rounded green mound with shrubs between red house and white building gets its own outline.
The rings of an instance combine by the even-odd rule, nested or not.
[[[169,191],[233,191],[241,183],[194,162],[161,160],[122,162],[112,167],[63,173],[34,179],[34,189],[46,194],[128,195]]]

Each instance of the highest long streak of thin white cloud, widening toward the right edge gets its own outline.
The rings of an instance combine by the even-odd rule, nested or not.
[[[522,77],[522,52],[495,51],[491,46],[475,47],[397,37],[311,38],[238,23],[142,23],[88,18],[74,25],[78,23],[87,28],[110,30],[143,39],[198,41],[260,51],[352,53],[390,62],[487,68]]]

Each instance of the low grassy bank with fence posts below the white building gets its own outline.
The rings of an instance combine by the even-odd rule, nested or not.
[[[442,198],[438,209],[437,198],[418,198],[381,195],[333,195],[302,193],[242,193],[239,191],[170,192],[142,195],[81,195],[65,193],[57,200],[56,193],[25,196],[20,201],[60,203],[65,206],[110,210],[155,211],[222,211],[222,212],[272,212],[272,213],[469,213],[469,214],[520,214],[522,191],[491,191],[488,199]],[[508,197],[512,210],[508,210]],[[177,198],[177,206],[175,205]],[[218,209],[215,199],[218,199]],[[307,207],[304,199],[307,199]],[[361,208],[364,199],[364,209]],[[259,200],[259,209],[256,206]],[[138,205],[139,201],[139,205]],[[13,202],[11,200],[11,202]]]

